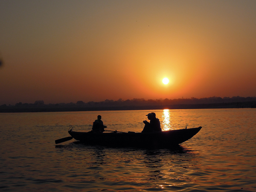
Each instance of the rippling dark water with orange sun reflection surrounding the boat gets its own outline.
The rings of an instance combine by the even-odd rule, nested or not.
[[[55,145],[98,114],[140,132],[148,112],[0,113],[0,191],[256,191],[256,109],[154,111],[163,130],[203,127],[175,149]]]

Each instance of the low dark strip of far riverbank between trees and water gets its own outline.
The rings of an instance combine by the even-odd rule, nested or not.
[[[154,105],[154,106],[97,106],[97,107],[4,107],[0,113],[31,113],[31,112],[64,112],[64,111],[126,111],[126,110],[163,110],[163,109],[222,109],[222,108],[256,108],[256,101],[230,102],[210,104],[177,104],[177,105]]]

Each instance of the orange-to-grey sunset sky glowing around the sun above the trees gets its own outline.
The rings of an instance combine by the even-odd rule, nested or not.
[[[256,0],[1,0],[0,58],[0,105],[256,96]]]

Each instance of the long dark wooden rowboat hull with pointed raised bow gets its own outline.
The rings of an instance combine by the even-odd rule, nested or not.
[[[94,133],[68,131],[74,139],[92,145],[107,146],[174,146],[191,139],[202,127],[151,133]],[[68,137],[67,137],[68,138]],[[72,139],[72,138],[71,138]]]

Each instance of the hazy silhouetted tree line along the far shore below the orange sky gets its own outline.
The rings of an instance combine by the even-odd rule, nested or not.
[[[44,101],[35,101],[32,103],[16,103],[15,105],[1,105],[0,108],[100,108],[100,107],[125,107],[125,106],[167,106],[167,105],[197,105],[197,104],[220,104],[220,103],[234,103],[234,102],[256,102],[256,97],[208,97],[208,98],[180,98],[180,99],[118,99],[116,101],[106,99],[102,102],[83,102],[76,103],[57,103],[44,104]]]

